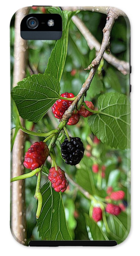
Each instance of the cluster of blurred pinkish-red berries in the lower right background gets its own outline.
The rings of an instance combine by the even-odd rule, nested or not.
[[[124,199],[124,196],[125,196],[124,191],[119,190],[119,191],[113,192],[112,187],[107,188],[107,194],[109,196],[107,196],[106,199],[112,199],[114,201],[122,200],[122,199]],[[122,201],[122,203],[120,203],[119,205],[115,205],[113,203],[107,203],[107,205],[105,207],[105,211],[110,214],[113,214],[113,215],[119,215],[120,212],[124,211],[124,210],[125,210],[124,201]],[[92,218],[96,222],[98,222],[99,220],[102,220],[102,209],[100,207],[93,208]]]

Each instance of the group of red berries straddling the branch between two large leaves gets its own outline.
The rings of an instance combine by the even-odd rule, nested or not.
[[[68,93],[65,92],[63,94],[61,94],[61,97],[64,98],[74,98],[74,94],[73,93]],[[62,100],[59,99],[55,102],[55,104],[52,106],[52,112],[54,114],[54,116],[58,119],[61,119],[65,113],[65,111],[69,108],[69,106],[72,104],[73,100]],[[88,108],[90,108],[91,110],[94,110],[94,105],[91,101],[85,101],[85,104],[87,105]],[[68,125],[75,125],[76,123],[78,123],[80,116],[83,117],[89,117],[90,115],[92,115],[92,112],[89,112],[88,110],[85,109],[84,106],[81,106],[80,110],[74,110],[72,113],[72,116],[69,118],[68,120]]]

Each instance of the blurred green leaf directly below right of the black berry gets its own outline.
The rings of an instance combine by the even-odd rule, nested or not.
[[[80,162],[79,168],[77,169],[76,181],[81,187],[83,187],[83,189],[88,191],[91,195],[94,195],[96,188],[94,184],[94,174],[91,168],[92,164],[92,159],[84,156]]]

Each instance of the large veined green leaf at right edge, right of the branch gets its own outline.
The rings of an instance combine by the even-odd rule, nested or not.
[[[106,93],[98,98],[99,112],[88,119],[92,132],[112,148],[130,147],[130,104],[126,95]]]

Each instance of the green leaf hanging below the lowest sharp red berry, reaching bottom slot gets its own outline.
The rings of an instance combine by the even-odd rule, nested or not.
[[[41,214],[37,220],[39,236],[46,240],[72,240],[64,212],[61,193],[57,193],[48,181],[41,188],[43,197]]]

